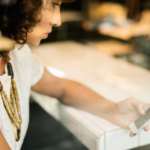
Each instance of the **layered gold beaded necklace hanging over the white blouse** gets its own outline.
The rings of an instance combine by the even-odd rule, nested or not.
[[[15,140],[19,141],[21,137],[22,116],[19,104],[19,96],[17,86],[14,80],[13,68],[10,63],[9,51],[0,52],[5,63],[7,64],[8,75],[11,76],[10,100],[6,92],[3,90],[3,85],[0,81],[0,94],[4,103],[4,107],[11,120],[14,129]]]

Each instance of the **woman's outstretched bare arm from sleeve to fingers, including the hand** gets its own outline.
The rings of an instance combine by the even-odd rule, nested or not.
[[[78,82],[57,78],[46,69],[43,78],[32,90],[56,97],[66,105],[96,114],[124,128],[128,128],[133,120],[150,107],[135,98],[114,103]]]

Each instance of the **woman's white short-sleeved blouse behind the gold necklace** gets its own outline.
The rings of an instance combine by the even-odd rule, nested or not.
[[[35,85],[43,76],[44,67],[40,60],[31,54],[28,45],[24,45],[20,50],[17,46],[10,52],[11,63],[14,71],[14,79],[17,84],[20,107],[22,114],[21,139],[15,141],[13,126],[7,115],[2,98],[0,96],[0,130],[2,131],[11,150],[20,150],[29,123],[29,97],[31,86]],[[11,77],[6,74],[0,76],[3,88],[10,98]]]

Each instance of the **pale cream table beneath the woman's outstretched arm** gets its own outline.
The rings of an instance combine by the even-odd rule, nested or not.
[[[150,72],[143,68],[71,41],[41,45],[32,52],[53,74],[79,81],[112,101],[133,96],[150,103]],[[103,118],[64,106],[54,98],[34,92],[32,96],[90,150],[127,150],[150,143],[150,132],[141,131],[131,138],[129,130]]]

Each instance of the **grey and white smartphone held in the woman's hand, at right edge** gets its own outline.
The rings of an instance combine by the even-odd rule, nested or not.
[[[150,123],[150,108],[145,112],[145,115],[139,116],[134,122],[129,125],[131,132],[136,135],[139,133],[145,125]]]

